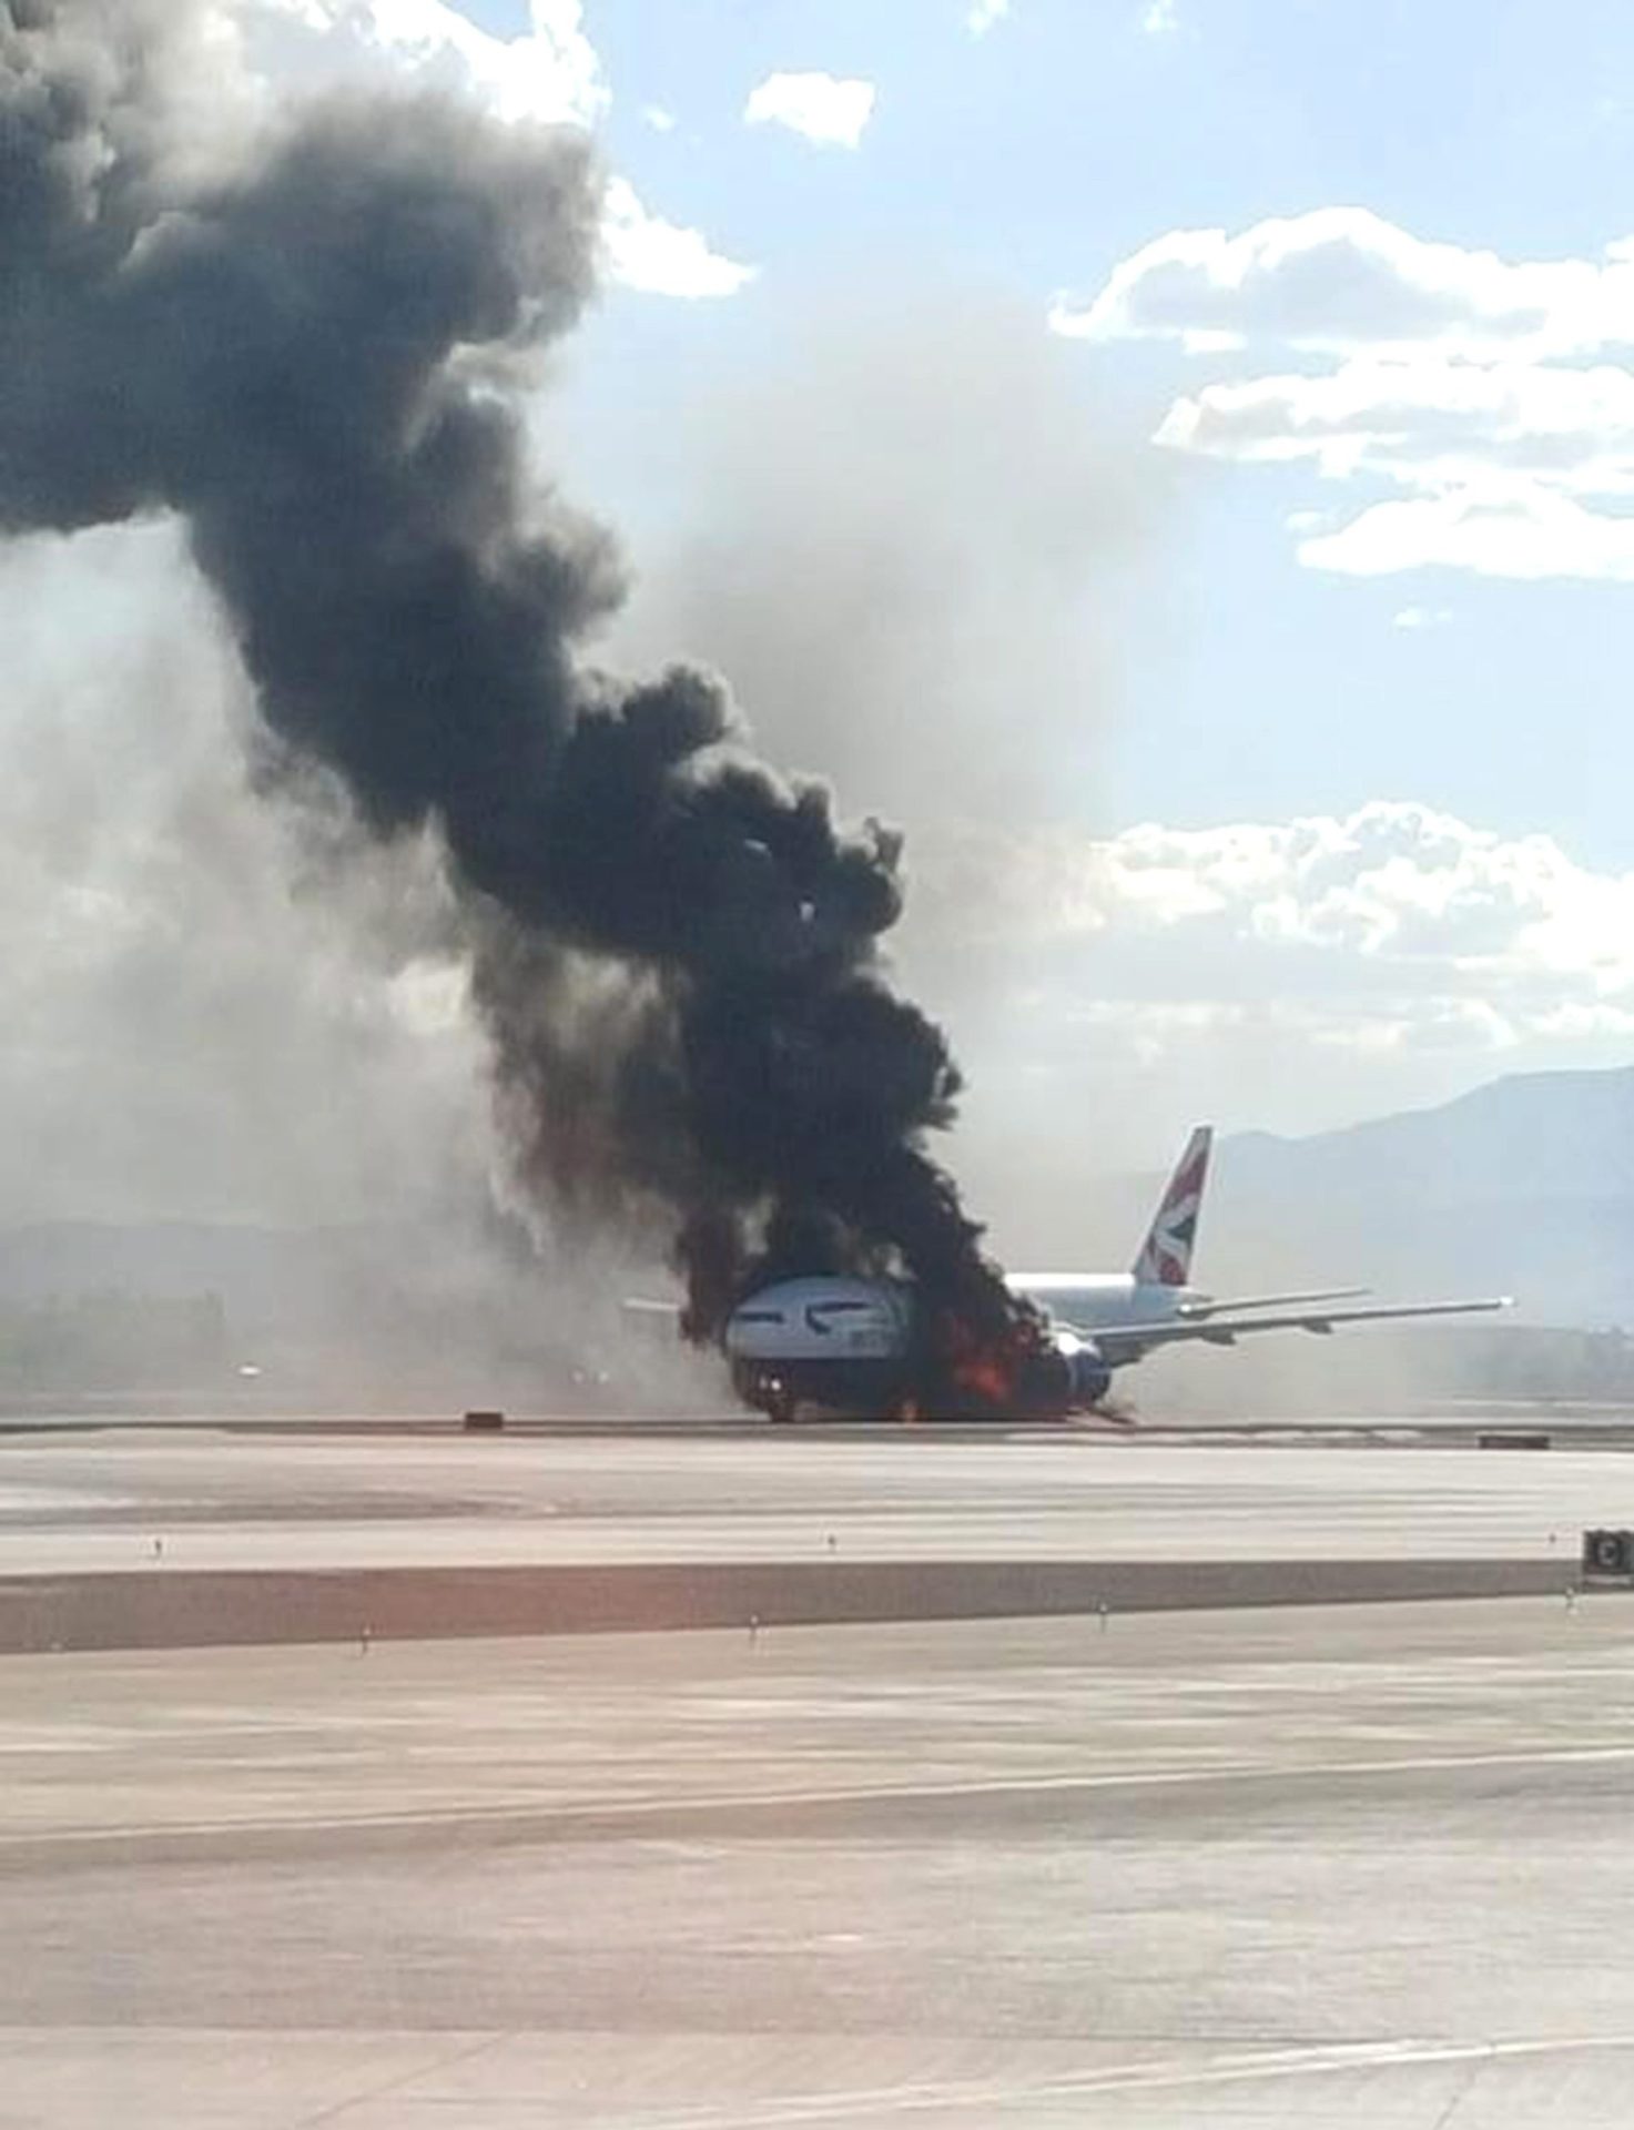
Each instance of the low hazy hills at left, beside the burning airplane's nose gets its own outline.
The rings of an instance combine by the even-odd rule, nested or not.
[[[104,1380],[145,1395],[151,1355],[177,1344],[160,1333],[190,1312],[211,1325],[215,1359],[170,1363],[166,1387],[179,1391],[219,1395],[222,1380],[243,1391],[236,1372],[249,1363],[254,1395],[275,1406],[569,1399],[579,1410],[618,1367],[626,1399],[648,1378],[671,1406],[699,1384],[718,1399],[712,1376],[682,1367],[673,1336],[631,1340],[620,1306],[631,1276],[584,1259],[565,1255],[556,1278],[499,1218],[0,1229],[0,1404]]]

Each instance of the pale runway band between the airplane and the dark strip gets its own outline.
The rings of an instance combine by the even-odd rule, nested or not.
[[[1540,1559],[1574,1555],[1589,1523],[1634,1525],[1634,1461],[912,1429],[871,1440],[111,1429],[0,1442],[0,1576],[831,1553]]]

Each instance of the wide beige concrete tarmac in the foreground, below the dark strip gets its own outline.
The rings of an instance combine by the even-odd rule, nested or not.
[[[0,2119],[1619,2121],[1634,1610],[0,1661]]]

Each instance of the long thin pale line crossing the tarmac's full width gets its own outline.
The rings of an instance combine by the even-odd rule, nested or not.
[[[718,1813],[778,1813],[844,1804],[925,1804],[959,1798],[1048,1798],[1106,1789],[1180,1789],[1208,1783],[1280,1783],[1321,1776],[1455,1774],[1466,1768],[1617,1766],[1634,1762],[1634,1744],[1530,1747],[1508,1753],[1417,1753],[1400,1759],[1238,1762],[1219,1768],[1108,1770],[1106,1774],[976,1776],[959,1783],[856,1783],[837,1789],[703,1791],[677,1798],[622,1798],[592,1802],[528,1802],[428,1806],[390,1813],[339,1813],[288,1819],[179,1819],[128,1828],[34,1828],[0,1834],[0,1859],[45,1847],[119,1847],[121,1842],[254,1840],[277,1834],[390,1834],[420,1828],[582,1825],[588,1832],[626,1823],[705,1817]]]

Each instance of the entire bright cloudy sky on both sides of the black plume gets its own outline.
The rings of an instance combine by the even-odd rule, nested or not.
[[[775,760],[905,826],[899,969],[1001,1223],[1023,1169],[1157,1163],[1199,1116],[1314,1131],[1630,1056],[1625,6],[217,13],[271,96],[430,83],[594,132],[603,292],[533,432],[624,543],[597,654],[718,662]],[[279,1074],[349,1118],[303,1206],[475,1129],[445,971],[337,944],[239,788],[241,684],[166,530],[21,543],[0,596],[0,1110],[62,1150],[13,1201],[164,1212],[207,1112],[181,1210],[288,1212]],[[173,780],[121,773],[136,726]],[[160,967],[166,1059],[121,1046],[113,1095]]]

